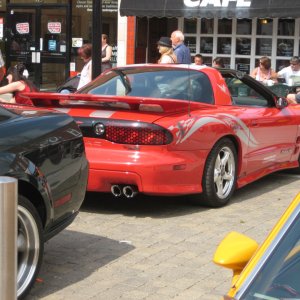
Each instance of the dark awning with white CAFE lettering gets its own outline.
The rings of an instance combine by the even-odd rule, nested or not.
[[[300,0],[121,0],[121,16],[298,18]]]

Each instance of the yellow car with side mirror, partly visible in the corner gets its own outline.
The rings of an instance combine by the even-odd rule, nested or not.
[[[226,300],[300,300],[300,193],[260,247],[231,232],[213,261],[233,270]]]

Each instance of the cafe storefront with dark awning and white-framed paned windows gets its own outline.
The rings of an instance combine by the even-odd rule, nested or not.
[[[136,41],[127,45],[134,58],[127,59],[138,63],[155,62],[156,41],[177,28],[192,55],[201,53],[207,65],[218,56],[247,73],[261,56],[279,70],[300,51],[299,0],[121,0],[120,14],[135,20],[128,24]]]

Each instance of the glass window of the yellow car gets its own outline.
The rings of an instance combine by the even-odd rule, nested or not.
[[[249,288],[237,299],[300,299],[299,212]]]

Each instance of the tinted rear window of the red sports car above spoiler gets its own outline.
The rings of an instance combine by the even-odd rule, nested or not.
[[[179,68],[112,69],[78,93],[214,103],[212,87],[206,74]]]

